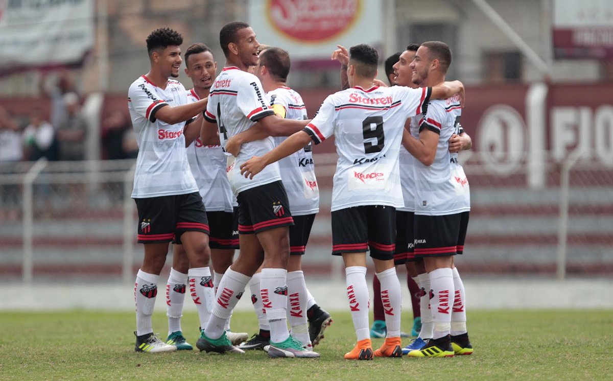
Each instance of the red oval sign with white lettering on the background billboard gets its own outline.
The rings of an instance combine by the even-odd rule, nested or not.
[[[357,20],[361,0],[269,0],[270,23],[284,36],[322,42],[345,32]]]

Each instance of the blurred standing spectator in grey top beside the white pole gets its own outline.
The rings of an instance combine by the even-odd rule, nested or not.
[[[77,93],[68,92],[63,99],[66,117],[56,126],[59,160],[83,160],[87,122],[81,113]]]

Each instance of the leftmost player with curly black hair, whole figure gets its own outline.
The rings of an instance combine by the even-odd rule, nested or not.
[[[178,77],[183,61],[181,43],[183,37],[172,29],[151,32],[147,37],[151,69],[128,90],[128,109],[139,143],[132,198],[139,213],[138,242],[145,247],[134,285],[137,352],[177,350],[151,328],[159,273],[170,241],[183,242],[194,271],[208,268],[210,257],[207,214],[189,169],[183,133],[184,127],[188,132],[199,127],[195,116],[207,101],[188,102],[183,85],[170,79]]]

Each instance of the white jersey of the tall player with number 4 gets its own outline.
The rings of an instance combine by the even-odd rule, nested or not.
[[[262,83],[251,73],[243,72],[238,67],[224,67],[221,74],[211,86],[208,95],[205,119],[219,126],[221,146],[226,146],[228,138],[243,132],[253,126],[264,116],[273,115],[268,107],[268,98],[261,90]],[[267,165],[261,173],[247,179],[240,174],[240,165],[253,156],[262,156],[275,148],[272,137],[251,141],[240,147],[240,152],[234,160],[229,157],[227,175],[234,194],[253,187],[281,180],[278,164]]]

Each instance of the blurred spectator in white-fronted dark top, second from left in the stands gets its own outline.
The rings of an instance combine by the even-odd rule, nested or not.
[[[23,130],[23,148],[26,160],[58,159],[58,149],[53,126],[43,119],[42,110],[33,108],[30,114],[30,124]]]

